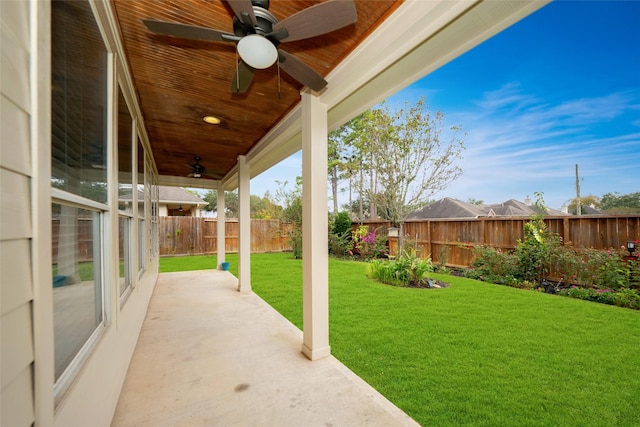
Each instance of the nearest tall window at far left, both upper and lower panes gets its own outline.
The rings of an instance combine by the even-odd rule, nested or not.
[[[86,1],[51,4],[56,397],[104,325],[108,53]]]

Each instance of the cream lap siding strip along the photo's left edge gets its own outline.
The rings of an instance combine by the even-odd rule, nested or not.
[[[0,423],[16,427],[35,421],[29,46],[29,3],[0,1]]]

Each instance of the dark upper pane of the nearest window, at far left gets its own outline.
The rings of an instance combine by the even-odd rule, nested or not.
[[[87,2],[52,3],[52,184],[107,201],[107,51]]]

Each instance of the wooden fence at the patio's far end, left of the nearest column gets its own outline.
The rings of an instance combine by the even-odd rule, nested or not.
[[[161,217],[158,221],[160,255],[214,254],[218,245],[218,220],[196,217]],[[277,219],[251,220],[251,252],[290,250],[291,224]],[[225,252],[238,252],[238,220],[225,221]]]

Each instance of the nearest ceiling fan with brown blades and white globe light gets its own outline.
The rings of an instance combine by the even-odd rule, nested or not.
[[[231,81],[231,92],[247,91],[256,69],[265,69],[276,61],[291,77],[319,91],[327,85],[313,68],[279,48],[280,43],[308,39],[356,22],[353,0],[329,0],[294,13],[278,21],[269,12],[269,0],[225,0],[235,13],[233,34],[213,28],[145,19],[147,28],[162,35],[192,40],[237,43],[240,61]]]

